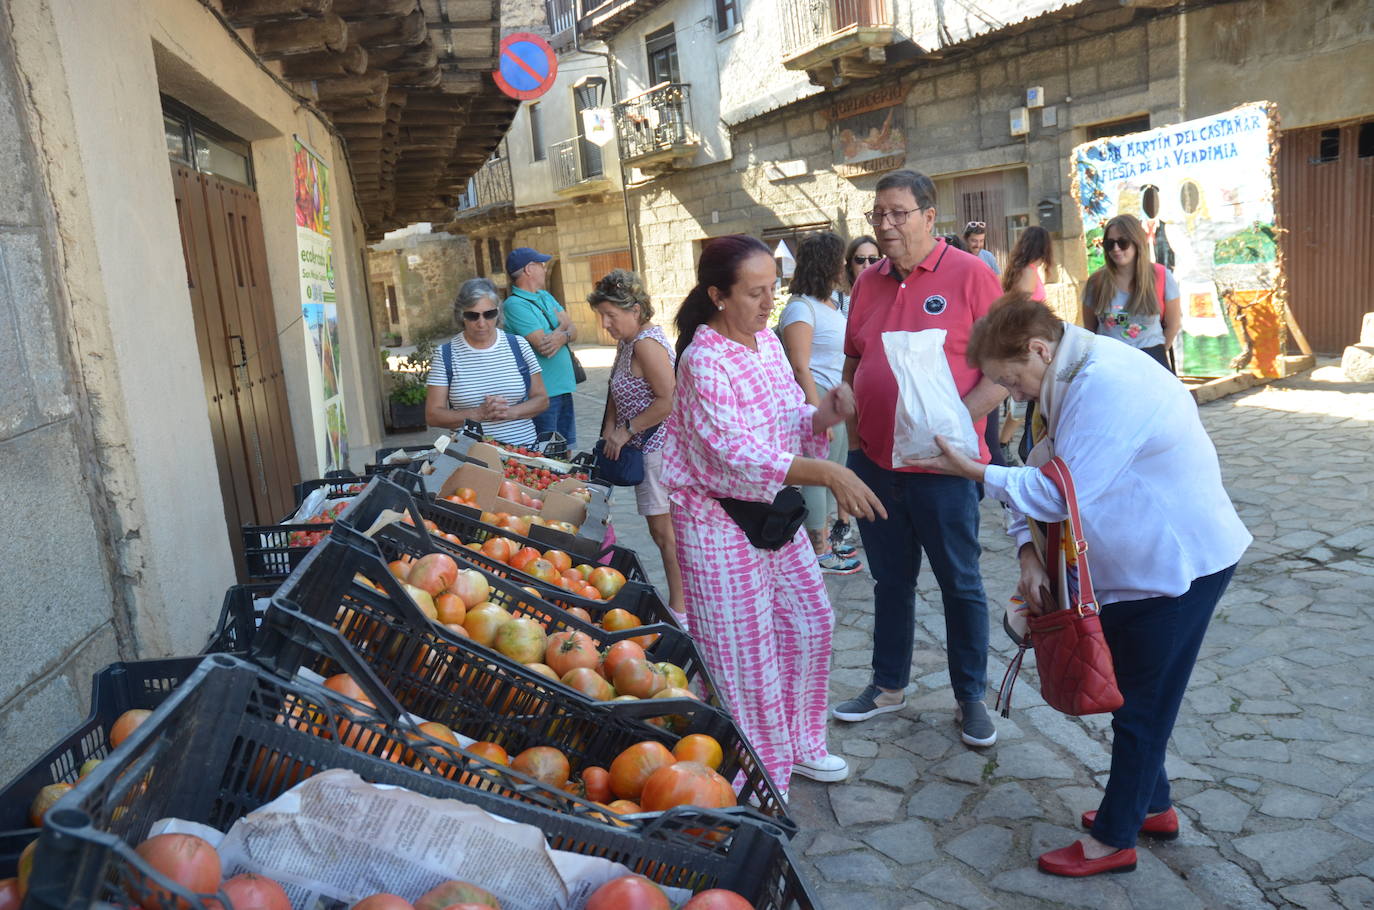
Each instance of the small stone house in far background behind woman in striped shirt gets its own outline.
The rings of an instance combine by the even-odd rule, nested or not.
[[[412,345],[419,338],[456,331],[453,297],[459,285],[477,275],[473,243],[429,228],[420,224],[393,231],[368,247],[372,330],[383,344],[392,337]]]

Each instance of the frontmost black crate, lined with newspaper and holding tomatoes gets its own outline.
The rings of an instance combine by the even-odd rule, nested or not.
[[[205,723],[202,719],[214,719]],[[345,748],[345,730],[367,751]],[[416,767],[378,757],[412,749]],[[451,760],[445,760],[451,759]],[[456,799],[537,826],[555,850],[599,855],[665,885],[743,894],[758,909],[818,906],[782,833],[741,817],[680,808],[658,818],[627,818],[616,828],[570,811],[578,800],[464,753],[416,745],[359,702],[311,683],[287,682],[231,656],[207,657],[166,704],[104,764],[49,812],[34,856],[27,907],[87,907],[96,900],[131,907],[147,881],[205,903],[162,880],[133,845],[166,817],[220,830],[324,768],[354,771],[374,784]],[[484,789],[447,774],[484,777]],[[150,785],[155,782],[154,785]],[[589,807],[596,812],[595,807]],[[478,883],[474,870],[458,870]]]

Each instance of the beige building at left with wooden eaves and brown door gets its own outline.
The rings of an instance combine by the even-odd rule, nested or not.
[[[364,245],[514,111],[497,4],[445,5],[0,3],[0,779],[93,669],[199,652],[239,525],[379,441]]]

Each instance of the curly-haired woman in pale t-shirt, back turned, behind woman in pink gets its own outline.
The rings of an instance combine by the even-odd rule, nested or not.
[[[791,300],[778,319],[782,346],[807,396],[807,404],[820,406],[826,393],[837,388],[845,367],[845,315],[834,291],[845,276],[845,242],[837,234],[808,234],[797,245],[797,271],[787,291]],[[844,425],[830,429],[829,460],[845,463],[849,451]],[[837,511],[835,498],[826,487],[802,487],[807,502],[807,535],[816,551],[820,570],[830,575],[853,575],[863,568],[853,550],[838,553],[826,536],[826,522]],[[848,525],[849,515],[838,514]]]

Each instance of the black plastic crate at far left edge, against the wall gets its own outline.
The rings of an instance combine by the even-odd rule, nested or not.
[[[110,664],[91,682],[91,715],[22,774],[0,789],[0,878],[15,874],[19,854],[37,836],[29,804],[49,784],[74,784],[88,759],[110,753],[109,733],[131,708],[153,709],[190,676],[199,657],[133,660]]]

